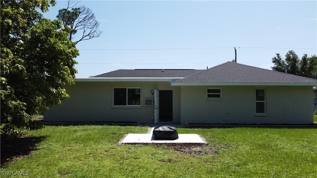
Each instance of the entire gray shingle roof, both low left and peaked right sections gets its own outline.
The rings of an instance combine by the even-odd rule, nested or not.
[[[317,86],[317,80],[306,77],[271,71],[243,64],[226,62],[208,70],[193,69],[135,69],[116,70],[91,77],[91,79],[140,80],[138,78],[174,78],[171,85],[305,85]],[[180,79],[183,78],[183,79]]]

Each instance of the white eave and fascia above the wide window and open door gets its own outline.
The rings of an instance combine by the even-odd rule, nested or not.
[[[122,78],[80,78],[75,79],[75,82],[174,82],[179,78],[148,78],[148,77],[122,77]]]

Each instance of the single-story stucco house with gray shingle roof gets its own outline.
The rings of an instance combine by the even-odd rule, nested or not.
[[[207,70],[116,70],[76,79],[47,122],[312,124],[317,80],[226,62]]]

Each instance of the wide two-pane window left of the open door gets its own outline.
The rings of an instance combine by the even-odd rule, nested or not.
[[[140,88],[115,88],[113,89],[114,106],[140,106]]]

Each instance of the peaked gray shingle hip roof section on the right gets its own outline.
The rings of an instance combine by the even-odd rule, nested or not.
[[[174,83],[312,83],[316,86],[317,80],[226,62]]]

